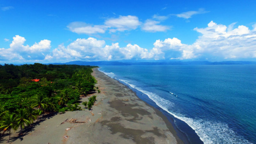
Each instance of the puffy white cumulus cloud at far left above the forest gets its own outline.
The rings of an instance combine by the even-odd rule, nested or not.
[[[41,40],[32,46],[24,45],[26,39],[16,35],[10,44],[10,48],[0,49],[1,60],[43,60],[45,54],[51,48],[51,41]]]

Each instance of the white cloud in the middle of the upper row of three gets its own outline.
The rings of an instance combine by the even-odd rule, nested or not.
[[[106,20],[105,25],[111,28],[110,32],[125,31],[136,29],[140,25],[140,21],[136,16],[119,16],[119,18]]]

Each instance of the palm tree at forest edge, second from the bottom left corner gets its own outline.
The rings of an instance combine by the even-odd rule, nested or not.
[[[30,124],[30,121],[28,119],[28,111],[26,108],[17,109],[17,122],[18,126],[20,126],[20,135],[22,133],[22,129],[25,128],[25,124]]]

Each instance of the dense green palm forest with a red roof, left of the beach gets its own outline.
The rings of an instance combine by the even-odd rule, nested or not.
[[[80,95],[95,91],[92,66],[0,65],[0,137],[4,132],[32,126],[41,115],[81,110]],[[38,82],[33,79],[40,79]],[[90,109],[96,96],[89,98]],[[9,142],[8,140],[8,142]]]

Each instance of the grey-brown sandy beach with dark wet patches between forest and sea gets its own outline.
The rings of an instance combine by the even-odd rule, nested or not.
[[[106,76],[97,68],[92,75],[98,81],[101,93],[92,110],[68,111],[52,116],[36,125],[13,144],[93,144],[93,143],[183,143],[171,123],[157,109],[140,100],[135,92],[118,81]],[[90,97],[90,96],[88,96]],[[88,97],[81,101],[88,101]],[[71,118],[85,123],[64,122]],[[64,122],[63,124],[61,124]],[[69,129],[70,128],[70,129]],[[4,137],[8,139],[8,137]]]

